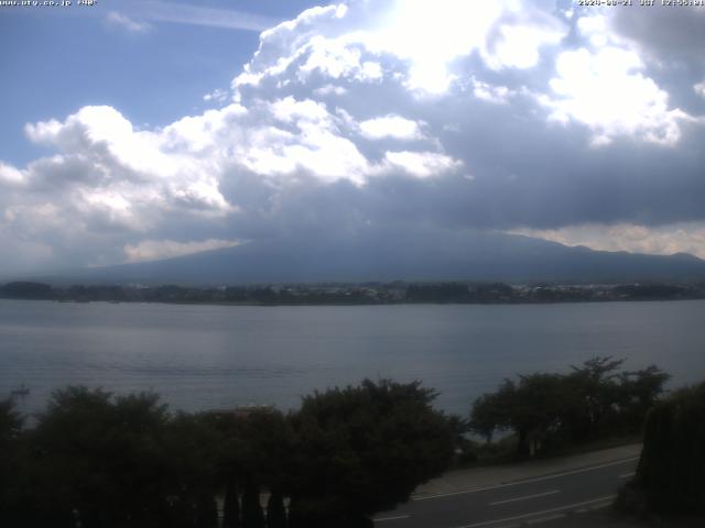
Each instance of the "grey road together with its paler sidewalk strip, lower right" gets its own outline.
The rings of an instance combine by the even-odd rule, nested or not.
[[[420,488],[398,509],[377,516],[375,526],[508,528],[604,508],[633,476],[640,450],[641,446],[628,446],[484,469],[476,477],[473,470],[453,472]]]

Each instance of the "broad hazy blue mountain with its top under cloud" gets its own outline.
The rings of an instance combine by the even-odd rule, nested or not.
[[[271,240],[162,261],[87,268],[54,283],[262,284],[366,280],[702,280],[705,261],[594,251],[497,232]]]

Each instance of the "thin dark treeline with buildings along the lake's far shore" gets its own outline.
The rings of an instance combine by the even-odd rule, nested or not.
[[[218,287],[139,284],[52,286],[37,282],[12,282],[0,285],[0,298],[62,302],[183,302],[254,306],[592,302],[705,299],[705,282],[510,285],[397,280]]]

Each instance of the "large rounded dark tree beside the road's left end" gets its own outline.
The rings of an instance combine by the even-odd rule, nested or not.
[[[453,431],[419,382],[366,380],[303,399],[292,416],[291,526],[364,522],[442,473]]]

